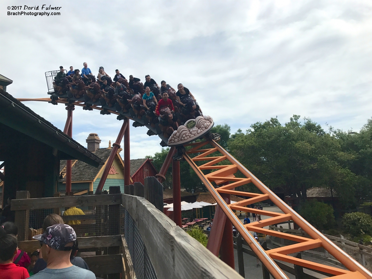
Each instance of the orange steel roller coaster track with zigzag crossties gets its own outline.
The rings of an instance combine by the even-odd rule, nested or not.
[[[19,101],[40,101],[48,102],[49,98],[41,99],[18,99]],[[76,106],[85,106],[84,102],[68,102],[67,99],[58,99],[57,103],[73,104]],[[98,106],[91,106],[93,109],[104,110]],[[106,109],[107,110],[107,109]],[[120,115],[120,113],[114,110],[107,110],[110,113]],[[126,118],[137,121],[134,118],[125,116]],[[372,273],[369,272],[365,267],[359,264],[356,260],[350,257],[347,253],[337,247],[332,241],[321,234],[316,228],[309,224],[304,218],[302,218],[297,212],[290,208],[285,202],[278,198],[268,187],[266,187],[260,180],[258,180],[250,171],[248,171],[241,163],[239,163],[234,157],[232,157],[226,150],[214,140],[208,140],[206,137],[205,141],[185,144],[190,149],[183,154],[183,158],[190,164],[192,169],[201,179],[203,184],[206,186],[208,191],[217,201],[218,205],[230,219],[232,224],[237,228],[241,236],[246,240],[250,248],[256,253],[264,266],[269,270],[271,275],[276,278],[288,278],[282,269],[275,263],[274,260],[280,260],[282,262],[295,264],[298,266],[305,267],[310,270],[316,270],[320,273],[327,274],[334,279],[372,279]],[[211,146],[211,148],[205,148],[205,145]],[[198,153],[195,157],[190,157],[189,154]],[[202,162],[200,164],[199,162]],[[219,164],[226,163],[226,164]],[[209,170],[209,173],[204,174],[203,170]],[[210,172],[212,171],[212,172]],[[235,177],[240,171],[244,177]],[[212,182],[216,185],[214,186]],[[228,183],[228,184],[227,184]],[[235,187],[245,185],[247,183],[253,183],[261,192],[260,193],[249,193],[235,190]],[[220,186],[223,185],[223,186]],[[221,197],[221,194],[239,195],[248,197],[244,201],[236,202],[233,204],[227,204]],[[270,211],[264,211],[259,209],[253,209],[245,207],[256,202],[265,201],[270,199],[283,213],[276,213]],[[264,219],[260,222],[251,222],[250,224],[243,225],[242,222],[237,218],[233,210],[240,210],[244,212],[251,212],[255,214],[269,216],[270,218]],[[268,230],[264,227],[293,220],[304,230],[311,238],[300,237],[297,235],[287,234],[279,231]],[[257,232],[261,234],[272,235],[279,238],[295,241],[296,244],[279,247],[265,251],[260,244],[254,240],[254,237],[250,232]],[[332,256],[334,256],[340,263],[342,263],[347,270],[336,267],[327,266],[320,263],[311,262],[304,259],[299,259],[289,254],[297,253],[305,250],[310,250],[317,247],[323,247]]]

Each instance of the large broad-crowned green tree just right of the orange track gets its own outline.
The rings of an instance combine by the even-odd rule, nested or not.
[[[310,187],[333,187],[345,205],[354,203],[355,174],[343,165],[353,155],[320,125],[294,115],[285,125],[278,118],[251,125],[228,141],[230,153],[267,186],[304,201]]]

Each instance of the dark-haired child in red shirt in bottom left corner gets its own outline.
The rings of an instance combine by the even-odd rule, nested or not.
[[[3,226],[0,226],[0,247],[0,278],[29,278],[29,274],[25,267],[13,263],[18,253],[17,237],[13,234],[7,234]]]

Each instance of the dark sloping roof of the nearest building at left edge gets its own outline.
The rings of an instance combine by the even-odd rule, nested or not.
[[[49,121],[0,89],[0,123],[60,151],[62,159],[78,159],[98,167],[104,162]]]

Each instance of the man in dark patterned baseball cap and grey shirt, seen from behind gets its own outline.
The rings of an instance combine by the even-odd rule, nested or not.
[[[76,233],[66,224],[48,227],[44,234],[33,237],[40,241],[41,254],[47,268],[31,276],[34,279],[96,279],[93,272],[74,266],[70,262],[74,249]]]

